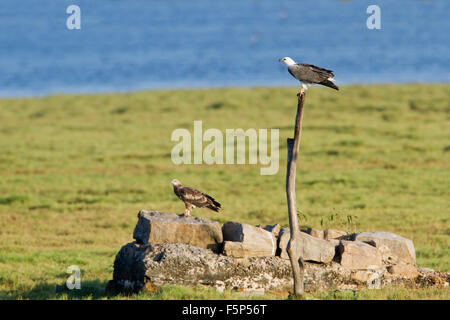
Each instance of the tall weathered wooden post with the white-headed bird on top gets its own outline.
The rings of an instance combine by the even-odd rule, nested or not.
[[[301,296],[304,292],[303,284],[303,257],[300,256],[298,248],[298,217],[297,217],[297,201],[295,198],[295,174],[297,171],[297,158],[300,149],[300,140],[302,136],[302,118],[303,118],[303,104],[305,102],[305,91],[302,89],[297,94],[297,116],[295,117],[294,139],[287,139],[288,159],[286,171],[286,197],[289,210],[289,228],[290,240],[288,244],[288,255],[291,260],[292,273],[294,276],[294,295]]]

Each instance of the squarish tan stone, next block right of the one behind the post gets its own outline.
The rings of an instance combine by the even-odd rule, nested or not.
[[[336,250],[336,260],[350,269],[378,269],[382,256],[377,248],[361,241],[342,240]]]

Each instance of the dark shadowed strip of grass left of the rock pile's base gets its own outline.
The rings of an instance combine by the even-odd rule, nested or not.
[[[107,299],[109,296],[105,294],[106,284],[107,281],[88,280],[81,282],[80,289],[69,290],[65,283],[42,282],[29,290],[0,290],[0,300]]]

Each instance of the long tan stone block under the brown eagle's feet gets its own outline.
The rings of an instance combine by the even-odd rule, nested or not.
[[[220,224],[199,217],[141,210],[133,238],[139,244],[185,243],[219,251],[222,245]]]

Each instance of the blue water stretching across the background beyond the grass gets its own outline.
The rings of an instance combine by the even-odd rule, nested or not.
[[[284,56],[338,84],[450,82],[449,33],[449,0],[1,0],[0,95],[296,85]]]

